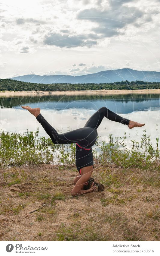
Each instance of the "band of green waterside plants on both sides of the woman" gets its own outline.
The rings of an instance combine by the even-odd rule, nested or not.
[[[58,132],[61,133],[62,130]],[[131,141],[130,149],[125,145],[126,132],[123,137],[115,137],[115,139],[112,135],[109,134],[108,143],[101,142],[100,137],[97,137],[97,148],[93,149],[94,160],[97,159],[103,166],[115,163],[125,168],[144,167],[159,161],[158,137],[154,148],[151,136],[146,134],[146,130],[143,130],[143,136],[139,141]],[[38,129],[35,132],[27,130],[24,134],[0,130],[0,165],[22,166],[32,163],[73,165],[75,164],[75,144],[53,144],[50,138],[39,137]],[[19,182],[15,179],[11,185]]]

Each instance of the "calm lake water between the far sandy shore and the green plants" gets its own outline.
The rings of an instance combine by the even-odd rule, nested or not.
[[[114,137],[123,136],[126,131],[126,145],[131,147],[131,140],[137,141],[146,129],[146,134],[151,134],[153,145],[160,132],[160,98],[159,94],[134,94],[114,96],[25,96],[13,98],[0,98],[0,128],[4,131],[23,133],[28,128],[35,131],[39,127],[40,135],[48,137],[42,126],[28,111],[21,109],[21,105],[32,108],[40,107],[42,115],[57,130],[67,131],[81,128],[97,109],[106,106],[117,114],[145,123],[142,128],[129,129],[126,125],[103,119],[98,128],[101,141],[108,141],[108,134]],[[158,128],[157,126],[158,125]]]

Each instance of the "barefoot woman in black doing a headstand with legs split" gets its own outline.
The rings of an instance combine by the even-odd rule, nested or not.
[[[94,168],[92,146],[97,139],[97,128],[104,117],[128,125],[130,129],[145,125],[123,118],[106,107],[102,107],[90,117],[83,128],[58,134],[40,114],[40,108],[32,109],[29,106],[22,106],[22,108],[27,109],[36,117],[54,144],[76,143],[75,164],[80,175],[74,179],[75,186],[71,191],[72,196],[90,193],[96,189],[96,185],[99,191],[103,190],[103,185],[95,183],[91,174]]]

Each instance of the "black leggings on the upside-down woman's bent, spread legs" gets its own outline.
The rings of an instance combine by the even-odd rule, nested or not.
[[[73,131],[69,131],[63,134],[58,134],[57,131],[39,114],[36,119],[43,126],[47,134],[50,136],[54,144],[71,144],[78,143],[85,149],[91,148],[97,139],[97,128],[102,122],[102,119],[106,117],[109,120],[122,123],[124,125],[129,124],[129,120],[125,119],[106,107],[100,108],[95,112],[83,128],[79,128]]]

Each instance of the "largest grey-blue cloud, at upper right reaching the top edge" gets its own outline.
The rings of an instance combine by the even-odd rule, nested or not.
[[[128,24],[136,23],[145,14],[144,11],[140,11],[136,7],[126,6],[125,3],[127,2],[131,2],[131,0],[123,2],[109,1],[110,7],[113,9],[84,9],[77,14],[77,19],[92,21],[99,25],[98,27],[92,28],[92,31],[99,36],[116,36],[122,33],[122,28]],[[152,20],[149,14],[146,16],[146,19],[147,21]]]

